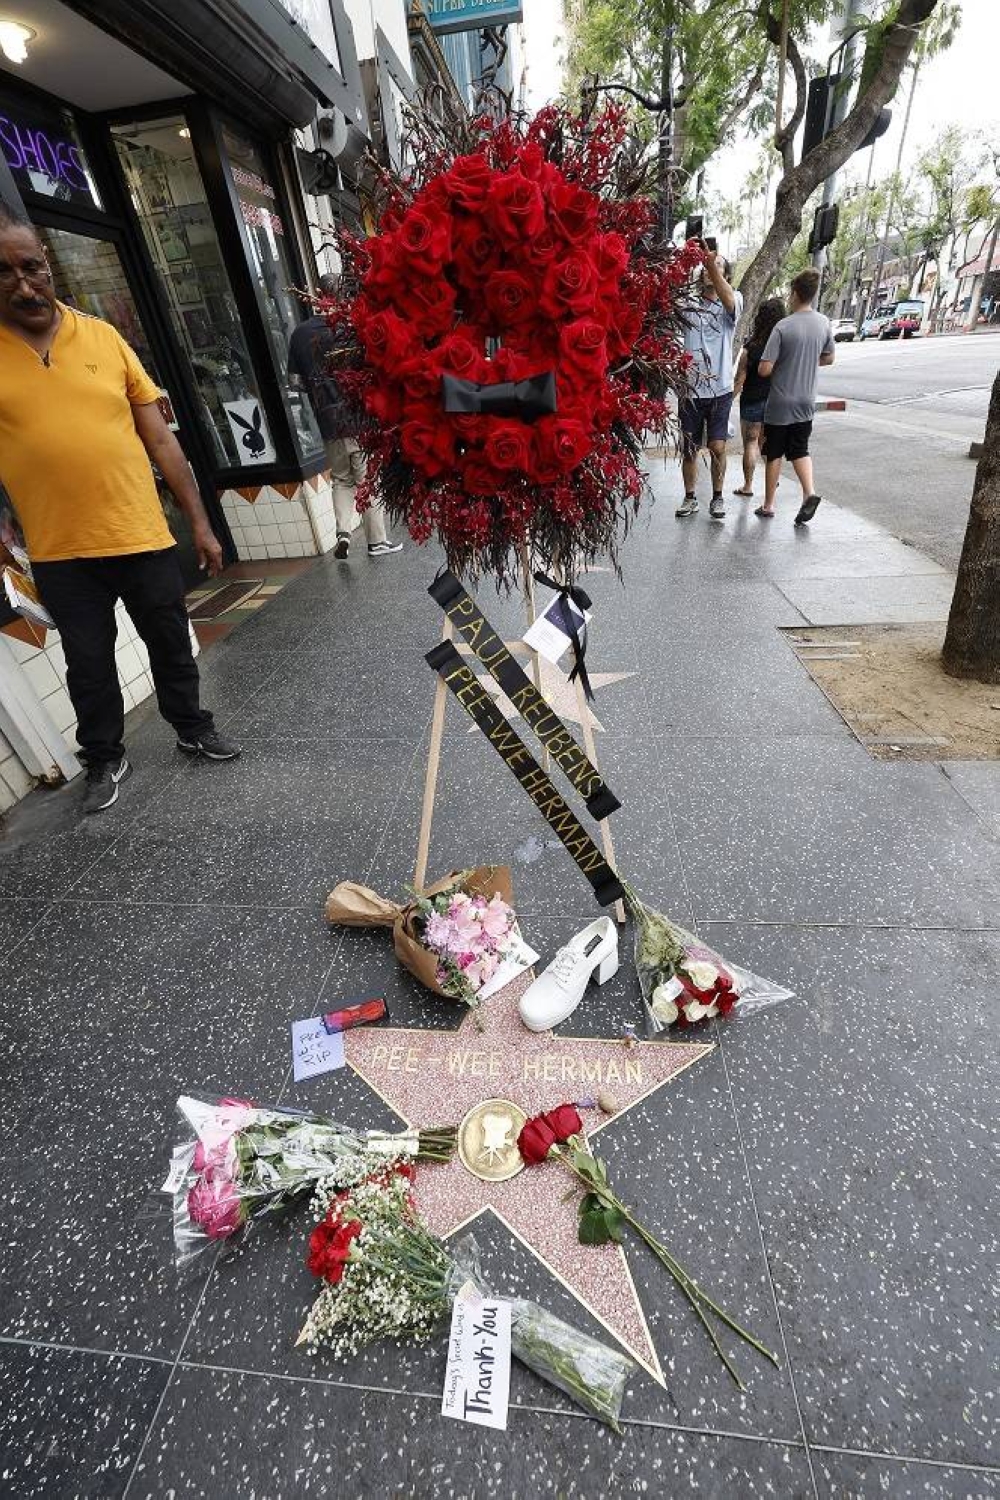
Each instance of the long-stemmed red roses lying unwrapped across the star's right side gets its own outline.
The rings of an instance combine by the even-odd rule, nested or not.
[[[645,1224],[640,1224],[633,1210],[615,1196],[607,1182],[607,1167],[586,1149],[583,1122],[576,1106],[559,1104],[555,1110],[535,1114],[534,1119],[529,1119],[522,1126],[517,1137],[517,1149],[528,1167],[537,1167],[544,1161],[559,1161],[583,1184],[583,1197],[580,1198],[582,1245],[606,1245],[609,1240],[621,1240],[625,1226],[639,1234],[676,1281],[694,1316],[712,1341],[712,1347],[741,1390],[745,1389],[744,1383],[726,1353],[712,1320],[723,1323],[732,1334],[736,1334],[751,1348],[756,1348],[759,1354],[769,1359],[772,1365],[778,1365],[771,1350],[765,1348],[760,1340],[754,1338],[753,1334],[714,1302],[673,1257],[663,1240],[657,1239]]]

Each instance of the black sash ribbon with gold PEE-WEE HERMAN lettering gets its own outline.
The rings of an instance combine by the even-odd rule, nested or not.
[[[594,886],[601,906],[610,906],[622,896],[621,880],[597,848],[573,808],[562,800],[550,778],[531,756],[525,742],[511,729],[481,681],[450,640],[429,651],[426,662],[454,693],[469,718],[483,730],[504,764],[517,777],[528,796],[562,843],[577,867]]]

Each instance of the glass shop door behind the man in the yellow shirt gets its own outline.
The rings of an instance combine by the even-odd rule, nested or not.
[[[37,225],[52,268],[55,296],[69,308],[78,308],[93,318],[103,318],[130,344],[150,376],[163,394],[163,414],[177,430],[174,405],[157,370],[156,356],[142,328],[135,300],[129,290],[118,246],[112,238],[96,238],[69,230]],[[183,434],[180,434],[183,444]],[[187,518],[178,507],[166,484],[156,476],[156,488],[166,514],[166,524],[178,546],[178,558],[184,580],[193,585],[201,579],[198,556],[190,537]]]

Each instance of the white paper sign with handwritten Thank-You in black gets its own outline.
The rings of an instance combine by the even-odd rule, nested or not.
[[[507,1428],[510,1401],[510,1302],[483,1298],[471,1281],[451,1308],[442,1416]]]

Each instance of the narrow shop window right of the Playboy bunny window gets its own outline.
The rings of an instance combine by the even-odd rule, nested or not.
[[[298,453],[304,458],[322,447],[322,438],[309,399],[288,378],[288,342],[303,320],[303,302],[295,292],[300,278],[294,270],[288,225],[282,219],[280,202],[262,153],[229,126],[223,128],[222,135],[240,204],[250,272],[256,280],[264,314],[264,328],[285,405],[292,418]]]

